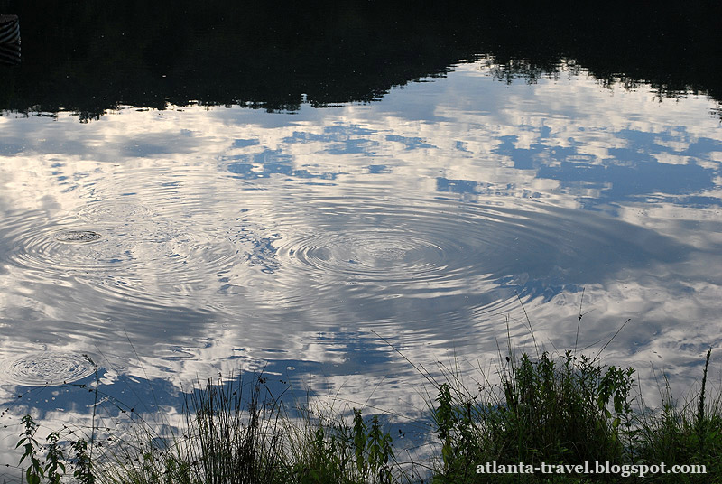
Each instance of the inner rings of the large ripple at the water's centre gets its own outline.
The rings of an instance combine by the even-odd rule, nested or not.
[[[518,210],[328,202],[289,220],[301,220],[309,229],[282,237],[276,247],[287,267],[316,278],[458,285],[514,274],[518,251],[539,254],[551,247],[529,214]]]

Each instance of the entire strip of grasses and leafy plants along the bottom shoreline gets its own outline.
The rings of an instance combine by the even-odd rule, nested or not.
[[[634,368],[602,363],[606,345],[592,357],[536,347],[532,356],[513,349],[507,332],[494,378],[472,382],[458,371],[437,381],[409,361],[435,392],[433,457],[423,461],[394,444],[383,414],[289,407],[263,373],[198,384],[182,430],[168,434],[114,404],[141,429],[114,435],[97,423],[107,399],[86,356],[96,368],[86,387],[91,428],[63,426],[39,442],[40,426],[25,414],[17,468],[28,484],[722,482],[722,397],[707,384],[712,350],[697,391],[678,401],[662,376],[662,405],[651,409]]]

